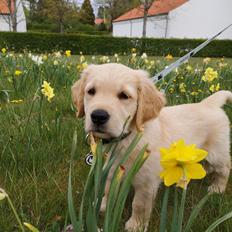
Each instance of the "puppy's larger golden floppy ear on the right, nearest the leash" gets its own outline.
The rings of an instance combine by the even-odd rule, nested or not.
[[[143,124],[159,115],[166,104],[164,95],[157,90],[147,72],[136,71],[139,76],[138,83],[138,106],[136,112],[136,127],[141,130]]]

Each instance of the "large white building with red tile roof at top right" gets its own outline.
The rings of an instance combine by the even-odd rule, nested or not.
[[[113,22],[113,35],[142,37],[143,6]],[[209,38],[232,23],[232,0],[156,0],[148,11],[147,37]],[[232,28],[218,37],[232,39]]]

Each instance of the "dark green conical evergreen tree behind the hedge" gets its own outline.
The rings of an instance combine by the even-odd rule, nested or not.
[[[80,21],[82,23],[94,25],[95,15],[90,0],[84,0],[80,10]]]

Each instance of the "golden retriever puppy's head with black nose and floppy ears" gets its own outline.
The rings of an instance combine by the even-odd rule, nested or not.
[[[86,132],[100,138],[118,137],[123,129],[140,130],[165,104],[145,71],[121,64],[88,66],[73,85],[72,96],[77,116],[85,116]]]

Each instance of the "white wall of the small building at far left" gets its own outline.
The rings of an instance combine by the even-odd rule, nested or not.
[[[17,31],[18,32],[26,32],[26,18],[23,11],[23,5],[20,0],[17,1]],[[0,31],[12,31],[12,25],[9,25],[9,16],[8,15],[0,15]]]

